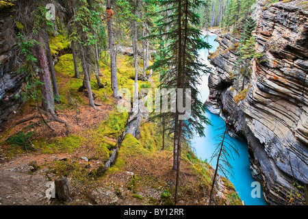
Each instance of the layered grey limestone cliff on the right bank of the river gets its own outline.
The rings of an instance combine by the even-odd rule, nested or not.
[[[218,52],[210,55],[216,70],[209,77],[207,105],[247,139],[251,170],[266,201],[286,204],[294,181],[308,183],[307,2],[280,1],[266,8],[259,1],[253,16],[256,49],[264,56],[251,63],[246,95],[235,103],[242,85],[234,67],[238,39],[224,34],[217,38]]]

